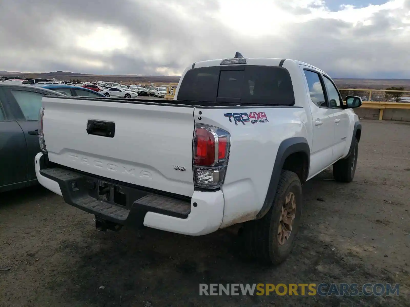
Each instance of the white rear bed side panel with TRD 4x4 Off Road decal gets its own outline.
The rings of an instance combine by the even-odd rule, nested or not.
[[[201,112],[201,113],[199,113]],[[227,114],[266,114],[267,122],[237,122]],[[307,138],[303,107],[196,108],[195,122],[228,131],[231,146],[222,186],[224,213],[221,228],[252,220],[261,210],[280,143],[288,138]]]

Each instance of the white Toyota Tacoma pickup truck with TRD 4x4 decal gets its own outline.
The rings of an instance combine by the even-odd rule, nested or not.
[[[240,223],[258,261],[292,250],[301,185],[353,179],[362,131],[322,70],[291,59],[196,62],[173,101],[44,97],[36,175],[99,230],[205,235]]]

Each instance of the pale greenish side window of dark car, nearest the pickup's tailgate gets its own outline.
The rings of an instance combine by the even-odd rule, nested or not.
[[[18,106],[26,120],[37,120],[41,108],[41,99],[45,94],[29,92],[26,90],[11,90]]]

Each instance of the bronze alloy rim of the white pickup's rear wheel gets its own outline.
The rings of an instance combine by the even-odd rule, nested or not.
[[[282,214],[280,215],[278,227],[278,243],[285,244],[286,240],[292,233],[292,225],[296,216],[296,197],[293,192],[289,192],[285,197],[285,202],[282,206]]]

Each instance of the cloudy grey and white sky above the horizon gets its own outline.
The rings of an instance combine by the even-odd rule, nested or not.
[[[277,57],[410,78],[410,0],[0,0],[0,70],[179,75]]]

